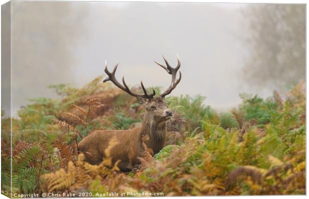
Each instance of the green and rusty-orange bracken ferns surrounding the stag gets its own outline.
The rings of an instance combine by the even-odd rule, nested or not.
[[[12,194],[306,193],[304,82],[283,97],[242,94],[239,107],[220,114],[200,96],[168,97],[176,112],[167,121],[168,145],[158,154],[144,145],[142,164],[130,173],[119,172],[110,158],[90,165],[77,152],[95,129],[128,129],[142,120],[135,98],[101,82],[98,77],[82,89],[53,85],[61,100],[30,100],[12,118]],[[10,118],[1,114],[1,122],[1,189],[10,194]]]

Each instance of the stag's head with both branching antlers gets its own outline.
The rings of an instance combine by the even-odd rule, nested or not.
[[[152,88],[153,93],[148,94],[142,81],[141,81],[141,87],[142,87],[144,94],[137,94],[137,93],[132,92],[129,89],[128,85],[126,84],[124,76],[122,77],[122,84],[118,82],[115,77],[115,73],[116,73],[119,62],[117,62],[112,72],[108,71],[107,64],[105,63],[105,70],[104,70],[105,73],[108,75],[108,77],[105,80],[103,80],[103,82],[111,81],[114,83],[114,85],[116,85],[121,90],[125,91],[131,96],[136,97],[137,100],[144,105],[147,111],[146,118],[153,120],[155,123],[166,121],[173,115],[172,111],[168,109],[167,103],[164,101],[164,98],[165,96],[170,94],[172,90],[176,88],[176,86],[181,80],[180,71],[179,71],[179,78],[176,79],[177,71],[180,68],[179,57],[177,56],[177,66],[175,68],[172,68],[164,57],[163,59],[164,59],[166,66],[161,65],[157,62],[155,63],[159,65],[160,67],[162,67],[168,74],[171,75],[171,83],[170,83],[170,86],[166,89],[166,91],[164,91],[159,97],[155,97],[154,88]]]

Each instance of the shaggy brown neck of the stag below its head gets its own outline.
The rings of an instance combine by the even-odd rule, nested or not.
[[[158,153],[164,146],[165,143],[165,121],[162,122],[154,122],[150,119],[149,115],[145,115],[140,140],[143,143],[142,137],[143,135],[148,135],[149,140],[146,142],[147,146],[154,150],[154,154]],[[141,145],[142,146],[142,145]]]

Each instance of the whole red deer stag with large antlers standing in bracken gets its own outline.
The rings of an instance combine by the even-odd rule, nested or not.
[[[166,66],[157,62],[155,63],[171,75],[171,84],[159,97],[155,97],[154,88],[153,93],[148,94],[142,81],[141,86],[144,94],[132,92],[126,84],[124,77],[122,78],[123,84],[116,80],[115,73],[118,63],[116,64],[113,72],[109,72],[107,69],[107,64],[105,64],[104,71],[108,77],[103,82],[111,81],[121,90],[127,92],[131,96],[136,97],[138,101],[143,103],[146,113],[141,126],[128,130],[96,130],[86,136],[78,144],[79,150],[85,154],[85,161],[90,164],[99,164],[102,162],[105,156],[104,151],[108,147],[112,138],[116,138],[118,144],[111,149],[110,156],[113,163],[117,160],[121,160],[118,167],[124,172],[131,171],[135,165],[140,164],[139,157],[142,157],[142,153],[145,151],[142,140],[144,135],[149,136],[146,144],[149,148],[153,149],[154,154],[163,148],[166,131],[165,121],[168,120],[173,114],[172,111],[168,109],[167,103],[164,101],[164,97],[170,94],[181,80],[180,71],[179,78],[176,79],[177,71],[180,68],[179,58],[177,57],[177,67],[175,68],[172,68],[164,57],[163,59]]]

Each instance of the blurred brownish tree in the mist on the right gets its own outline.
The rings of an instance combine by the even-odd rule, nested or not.
[[[305,79],[306,5],[254,4],[243,13],[249,20],[245,80],[283,88]]]

